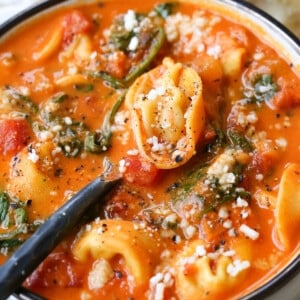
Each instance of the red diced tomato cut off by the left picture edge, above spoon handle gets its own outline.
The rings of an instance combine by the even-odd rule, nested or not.
[[[0,121],[0,151],[4,154],[16,154],[31,139],[31,128],[26,120]]]

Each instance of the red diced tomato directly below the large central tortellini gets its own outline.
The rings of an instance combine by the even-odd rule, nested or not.
[[[140,186],[153,184],[159,175],[159,170],[152,163],[139,156],[126,157],[125,167],[124,179]]]

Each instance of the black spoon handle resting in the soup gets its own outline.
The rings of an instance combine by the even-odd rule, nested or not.
[[[57,210],[0,267],[0,299],[6,299],[80,221],[85,211],[118,182],[96,178]]]

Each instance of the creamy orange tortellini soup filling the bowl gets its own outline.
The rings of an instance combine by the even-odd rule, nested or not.
[[[24,283],[48,299],[234,299],[299,255],[300,199],[287,197],[281,180],[296,177],[299,194],[300,81],[293,62],[242,24],[184,3],[161,16],[153,12],[158,3],[62,7],[0,45],[0,185],[2,197],[25,203],[22,222],[46,219],[103,172],[124,178]],[[136,13],[155,23],[137,39]],[[117,16],[132,34],[123,49],[108,44]],[[147,57],[155,26],[166,35],[158,53],[122,81]],[[112,86],[103,74],[121,83]],[[91,153],[85,136],[101,128],[122,95],[109,145]],[[178,103],[168,104],[174,99],[178,114]],[[158,101],[156,117],[138,101]],[[183,127],[186,107],[197,111]],[[139,124],[147,120],[153,123]],[[86,127],[72,127],[75,121]],[[58,138],[64,126],[83,131],[75,150]],[[191,155],[187,144],[169,142],[190,128]],[[169,163],[158,164],[162,156]],[[14,247],[6,247],[11,241],[3,234],[20,224],[0,221],[4,263]]]

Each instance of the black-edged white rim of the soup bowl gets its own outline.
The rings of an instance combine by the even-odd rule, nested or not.
[[[235,7],[236,9],[246,9],[252,14],[255,14],[254,17],[260,18],[266,24],[271,24],[272,27],[277,28],[277,31],[282,35],[284,39],[287,39],[291,42],[292,47],[295,47],[300,52],[300,39],[285,25],[280,21],[276,20],[266,11],[258,8],[254,4],[246,0],[213,0],[221,5],[229,5]],[[24,10],[16,13],[14,16],[10,17],[2,24],[0,24],[0,39],[2,39],[9,31],[15,29],[16,26],[21,25],[21,23],[28,21],[30,18],[44,12],[47,9],[54,8],[55,6],[61,6],[64,3],[70,2],[70,4],[84,4],[93,1],[78,1],[78,0],[42,0],[36,4],[33,4]],[[94,1],[95,2],[95,1]],[[281,271],[275,276],[271,277],[270,280],[266,281],[259,288],[250,291],[245,296],[242,296],[241,300],[255,300],[255,299],[264,299],[267,296],[272,296],[283,286],[287,285],[288,282],[295,278],[297,275],[300,275],[300,253],[298,253]],[[299,277],[300,278],[300,277]],[[300,288],[299,288],[300,296]]]

